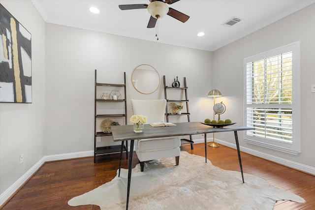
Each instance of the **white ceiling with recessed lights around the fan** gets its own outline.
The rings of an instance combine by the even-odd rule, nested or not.
[[[180,0],[169,7],[190,16],[182,23],[168,15],[148,29],[147,9],[121,10],[119,4],[149,4],[149,0],[32,0],[47,23],[123,35],[165,44],[214,51],[261,29],[315,0]],[[89,11],[91,6],[99,14]],[[221,24],[242,19],[232,27]],[[198,37],[203,31],[205,35]]]

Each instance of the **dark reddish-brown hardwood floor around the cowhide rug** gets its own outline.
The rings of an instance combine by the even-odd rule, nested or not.
[[[204,156],[202,143],[194,144],[194,150],[190,150],[190,145],[182,146],[182,150]],[[244,173],[259,176],[306,200],[304,204],[278,201],[274,210],[315,210],[315,176],[244,152],[241,156]],[[135,153],[133,157],[134,167],[139,161]],[[222,169],[240,171],[234,149],[222,145],[219,148],[207,146],[207,157]],[[126,155],[123,158],[123,168],[127,168]],[[2,206],[2,210],[99,210],[93,205],[70,207],[67,202],[112,180],[118,168],[119,154],[106,155],[106,159],[96,164],[93,157],[47,162]]]

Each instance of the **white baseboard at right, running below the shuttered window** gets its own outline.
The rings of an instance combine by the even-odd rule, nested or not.
[[[212,139],[213,138],[207,139],[207,142],[208,141],[212,142],[213,141]],[[196,140],[193,140],[193,142],[194,143],[204,143],[205,140],[204,139],[196,139]],[[230,143],[230,142],[225,142],[225,141],[222,141],[222,140],[216,139],[216,138],[215,138],[215,142],[217,142],[217,143],[219,143],[221,145],[224,145],[226,147],[230,147],[230,148],[236,149],[236,144],[233,144],[233,143]],[[311,166],[308,166],[308,165],[304,165],[304,164],[301,164],[301,163],[297,163],[297,162],[294,162],[294,161],[291,161],[291,160],[287,160],[287,159],[284,159],[284,158],[281,158],[281,157],[277,157],[277,156],[274,156],[274,155],[271,155],[271,154],[267,154],[267,153],[264,153],[264,152],[260,152],[260,151],[257,151],[257,150],[252,150],[252,149],[249,149],[249,148],[246,148],[246,147],[242,147],[242,146],[240,146],[240,150],[244,151],[246,153],[252,154],[254,156],[261,157],[263,159],[270,160],[270,161],[282,164],[284,166],[287,166],[287,167],[290,167],[290,168],[293,168],[293,169],[296,169],[296,170],[299,170],[299,171],[303,171],[303,172],[315,175],[315,168],[314,167],[311,167]]]

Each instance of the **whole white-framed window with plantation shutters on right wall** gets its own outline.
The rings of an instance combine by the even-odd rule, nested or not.
[[[244,60],[250,144],[300,153],[299,42]]]

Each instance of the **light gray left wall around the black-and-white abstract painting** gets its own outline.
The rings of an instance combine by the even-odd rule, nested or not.
[[[44,155],[45,22],[31,1],[0,3],[32,34],[32,103],[0,103],[0,193]],[[24,163],[20,165],[20,154]]]

